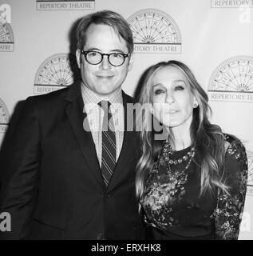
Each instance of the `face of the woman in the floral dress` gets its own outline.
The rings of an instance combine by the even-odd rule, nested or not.
[[[152,78],[153,114],[167,128],[189,127],[196,102],[184,73],[165,66]]]

